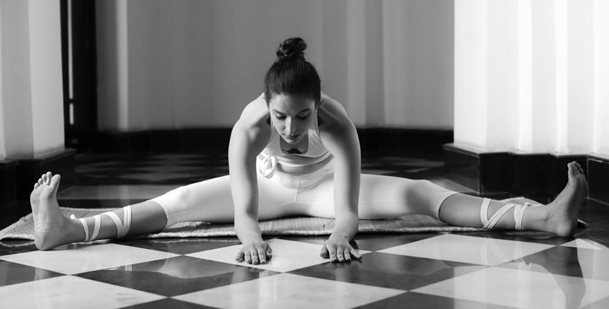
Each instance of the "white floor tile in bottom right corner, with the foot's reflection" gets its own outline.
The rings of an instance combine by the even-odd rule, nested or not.
[[[609,282],[493,267],[413,291],[518,308],[577,308],[609,296]]]

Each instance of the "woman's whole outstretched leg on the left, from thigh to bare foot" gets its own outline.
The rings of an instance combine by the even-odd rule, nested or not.
[[[51,249],[76,241],[121,238],[160,232],[183,221],[230,222],[233,200],[228,176],[179,187],[142,203],[88,218],[66,218],[57,203],[60,176],[41,176],[30,195],[34,217],[34,241],[38,249]],[[259,218],[281,217],[280,204],[293,193],[259,177]]]

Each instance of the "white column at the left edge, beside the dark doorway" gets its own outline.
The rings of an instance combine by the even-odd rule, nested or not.
[[[58,0],[0,2],[7,158],[37,158],[64,148],[59,7]]]

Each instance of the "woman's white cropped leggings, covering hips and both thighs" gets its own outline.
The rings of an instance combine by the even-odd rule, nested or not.
[[[427,180],[362,174],[359,218],[423,214],[439,220],[442,202],[455,193]],[[286,216],[334,218],[334,158],[308,175],[291,175],[277,168],[267,176],[258,172],[258,198],[259,220]],[[229,176],[178,187],[150,201],[165,210],[166,227],[183,221],[234,220]]]

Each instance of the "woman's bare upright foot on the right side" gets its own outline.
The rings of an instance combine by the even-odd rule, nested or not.
[[[588,195],[588,182],[582,167],[573,161],[568,165],[569,181],[552,203],[547,204],[546,231],[560,237],[572,237],[577,229],[577,215]]]

